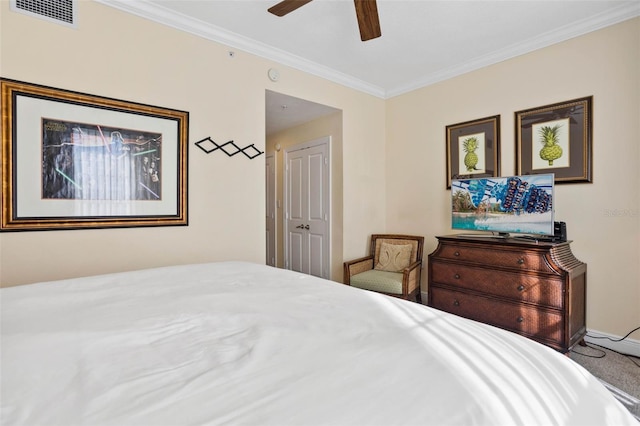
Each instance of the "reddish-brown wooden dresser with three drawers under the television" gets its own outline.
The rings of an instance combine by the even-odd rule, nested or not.
[[[429,306],[568,352],[586,334],[587,265],[570,241],[441,236]]]

